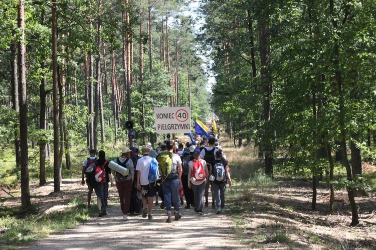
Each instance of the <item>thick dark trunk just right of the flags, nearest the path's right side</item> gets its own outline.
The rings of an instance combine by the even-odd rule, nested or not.
[[[272,83],[269,77],[269,61],[268,61],[268,34],[267,21],[260,22],[260,58],[261,58],[261,84],[263,92],[263,111],[264,111],[264,154],[265,154],[265,174],[273,177],[273,144],[271,141],[273,131],[270,126],[270,98],[272,94]]]

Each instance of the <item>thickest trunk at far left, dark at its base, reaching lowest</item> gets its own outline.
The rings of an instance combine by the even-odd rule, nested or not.
[[[26,45],[25,45],[25,16],[24,1],[20,0],[18,5],[17,26],[21,30],[21,37],[18,43],[18,82],[19,82],[19,103],[20,103],[20,149],[21,149],[21,205],[25,209],[31,207],[29,189],[29,160],[28,160],[28,105],[26,93]]]

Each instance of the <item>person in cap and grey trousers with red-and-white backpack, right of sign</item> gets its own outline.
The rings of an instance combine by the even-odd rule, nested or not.
[[[203,215],[205,187],[209,177],[207,163],[200,158],[200,148],[195,148],[194,159],[190,161],[188,172],[188,187],[192,188],[195,198],[195,212]]]

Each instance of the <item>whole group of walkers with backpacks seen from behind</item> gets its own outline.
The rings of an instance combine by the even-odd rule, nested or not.
[[[126,175],[123,175],[110,168],[103,150],[98,152],[98,158],[95,157],[95,149],[89,150],[90,156],[83,163],[81,184],[85,184],[85,172],[95,168],[97,182],[89,181],[88,176],[86,179],[87,198],[90,207],[94,189],[99,217],[107,214],[109,183],[111,186],[116,185],[118,190],[123,220],[128,220],[128,214],[142,214],[142,217],[152,219],[154,196],[156,204],[159,196],[160,208],[166,209],[166,222],[172,222],[172,216],[174,220],[181,218],[183,196],[186,201],[184,208],[194,207],[197,214],[203,215],[204,204],[209,206],[210,190],[212,208],[217,208],[216,213],[224,211],[226,184],[231,186],[232,181],[228,160],[215,137],[209,137],[207,144],[203,140],[201,146],[196,146],[194,141],[184,145],[178,143],[178,140],[166,140],[160,147],[153,149],[147,143],[141,149],[141,157],[138,152],[137,147],[123,147],[121,155],[114,159],[116,164],[127,169],[126,173],[123,172]],[[150,181],[150,169],[154,168],[158,169],[160,176],[157,174],[159,178]]]

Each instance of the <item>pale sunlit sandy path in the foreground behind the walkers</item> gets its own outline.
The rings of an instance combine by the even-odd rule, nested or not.
[[[185,204],[184,204],[185,205]],[[166,223],[165,210],[154,205],[154,218],[142,215],[122,220],[120,205],[108,215],[50,235],[24,249],[236,249],[244,248],[231,233],[232,220],[216,209],[204,207],[205,215],[181,208],[182,218]]]

